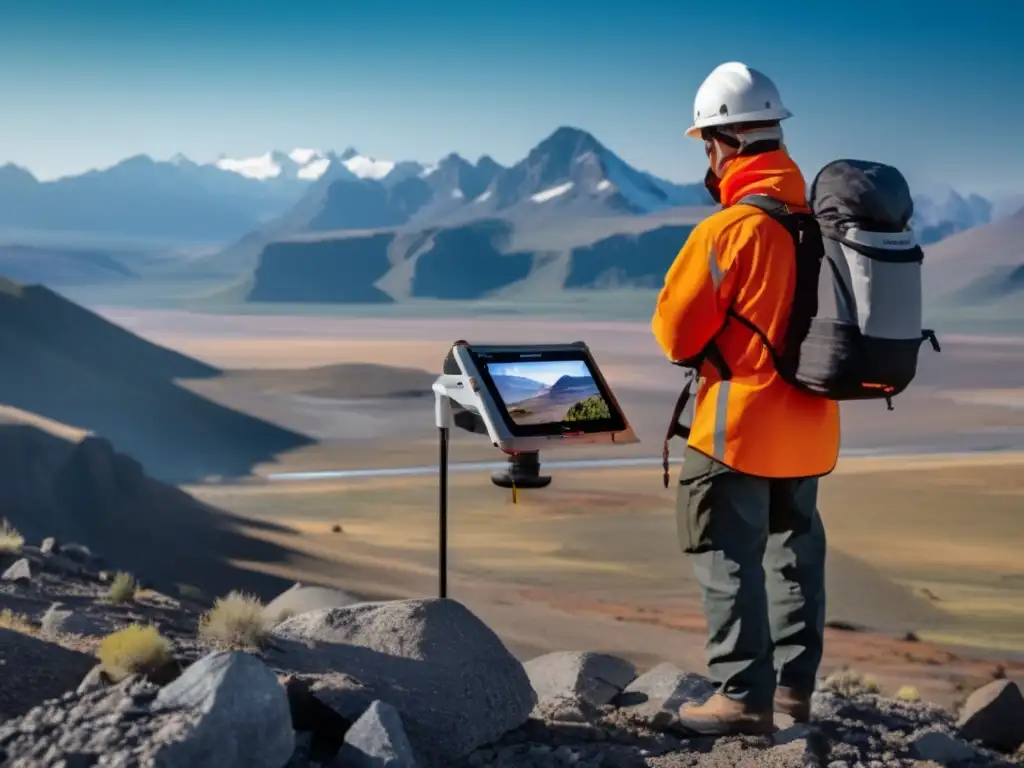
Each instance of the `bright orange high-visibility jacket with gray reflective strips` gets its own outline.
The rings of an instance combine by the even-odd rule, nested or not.
[[[839,403],[785,383],[764,342],[728,313],[780,347],[796,282],[793,239],[764,212],[735,203],[768,195],[807,211],[806,188],[784,150],[734,158],[721,179],[723,209],[690,233],[651,322],[672,360],[694,357],[715,339],[731,378],[701,365],[688,444],[761,477],[823,475],[839,458]]]

